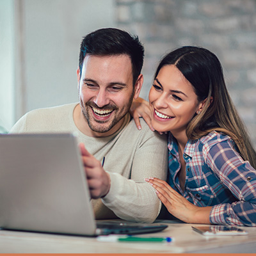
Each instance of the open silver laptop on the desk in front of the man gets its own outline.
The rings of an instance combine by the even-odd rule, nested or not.
[[[120,220],[97,223],[73,134],[0,135],[0,228],[98,236],[166,227]]]

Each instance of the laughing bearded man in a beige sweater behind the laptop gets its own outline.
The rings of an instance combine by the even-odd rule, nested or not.
[[[95,217],[152,222],[161,203],[144,179],[166,179],[167,150],[165,138],[143,120],[138,131],[129,115],[143,84],[143,46],[108,28],[85,36],[80,50],[80,104],[31,111],[11,132],[76,132]]]

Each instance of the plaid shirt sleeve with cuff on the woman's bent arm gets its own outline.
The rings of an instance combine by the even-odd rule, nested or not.
[[[236,202],[213,206],[211,223],[256,226],[256,170],[239,156],[230,140],[205,149],[204,155],[209,168],[237,198]]]

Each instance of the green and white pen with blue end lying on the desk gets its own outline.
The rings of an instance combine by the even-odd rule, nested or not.
[[[138,236],[99,236],[97,241],[102,242],[150,242],[150,243],[170,243],[173,241],[172,237],[138,237]]]

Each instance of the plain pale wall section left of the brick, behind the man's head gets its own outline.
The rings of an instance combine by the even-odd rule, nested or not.
[[[74,102],[79,45],[113,26],[111,0],[26,0],[27,110]]]

